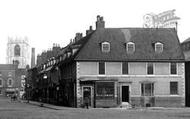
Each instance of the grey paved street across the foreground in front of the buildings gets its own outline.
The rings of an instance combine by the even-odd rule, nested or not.
[[[190,108],[81,109],[11,102],[0,97],[0,119],[189,119]]]

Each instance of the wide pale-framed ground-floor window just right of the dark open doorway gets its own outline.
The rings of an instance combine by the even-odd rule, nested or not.
[[[141,95],[142,96],[154,96],[154,84],[153,83],[142,83],[141,84]]]

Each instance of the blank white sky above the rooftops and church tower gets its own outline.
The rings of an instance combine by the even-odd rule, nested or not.
[[[25,37],[36,54],[58,43],[65,46],[76,32],[85,35],[96,16],[106,27],[142,27],[147,13],[176,9],[180,41],[190,37],[188,0],[0,0],[0,63],[6,63],[7,39]]]

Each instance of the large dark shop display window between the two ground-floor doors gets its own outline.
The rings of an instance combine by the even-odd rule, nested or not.
[[[114,82],[97,82],[96,99],[114,99]]]

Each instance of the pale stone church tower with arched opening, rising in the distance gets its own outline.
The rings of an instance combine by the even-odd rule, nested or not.
[[[7,64],[18,64],[18,68],[26,68],[30,65],[30,51],[27,37],[8,38]]]

